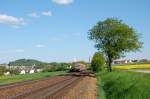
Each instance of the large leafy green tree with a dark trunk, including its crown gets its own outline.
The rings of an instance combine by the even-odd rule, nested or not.
[[[139,41],[140,34],[116,18],[98,22],[89,30],[88,35],[89,39],[95,41],[95,47],[105,53],[109,71],[112,71],[113,60],[142,47],[142,42]]]

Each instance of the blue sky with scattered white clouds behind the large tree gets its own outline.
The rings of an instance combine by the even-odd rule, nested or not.
[[[0,0],[0,63],[20,58],[87,61],[96,51],[88,30],[110,17],[142,34],[141,52],[126,58],[150,58],[149,4],[149,0]]]

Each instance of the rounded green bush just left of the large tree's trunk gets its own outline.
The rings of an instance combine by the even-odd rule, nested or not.
[[[91,68],[93,71],[98,72],[104,68],[105,59],[103,54],[100,52],[96,52],[92,58]]]

